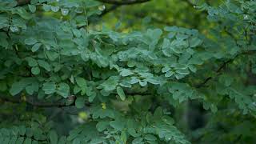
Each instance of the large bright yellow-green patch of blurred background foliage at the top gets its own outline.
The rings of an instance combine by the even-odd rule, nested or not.
[[[114,13],[106,14],[101,20],[108,26],[119,30],[146,30],[147,28],[165,26],[182,26],[205,30],[210,23],[206,12],[194,9],[203,1],[166,0],[145,2],[141,5],[117,6]],[[218,1],[209,1],[211,5]],[[106,5],[109,7],[109,5]],[[110,8],[113,6],[110,6]]]

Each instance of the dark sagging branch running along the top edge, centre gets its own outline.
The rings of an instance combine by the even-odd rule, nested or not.
[[[134,5],[138,3],[150,2],[150,0],[125,0],[125,1],[118,1],[118,0],[98,0],[98,2],[113,4],[113,5]]]

